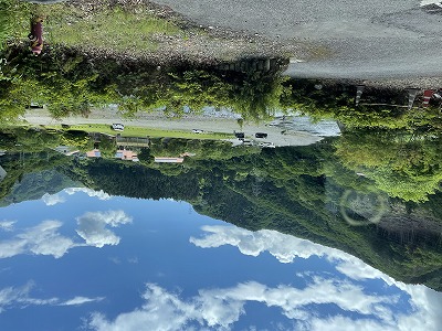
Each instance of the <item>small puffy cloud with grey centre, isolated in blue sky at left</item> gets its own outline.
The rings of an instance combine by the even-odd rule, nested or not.
[[[131,217],[123,211],[88,212],[76,218],[78,228],[76,233],[86,241],[87,245],[103,247],[117,245],[119,237],[106,226],[117,227],[131,222]]]

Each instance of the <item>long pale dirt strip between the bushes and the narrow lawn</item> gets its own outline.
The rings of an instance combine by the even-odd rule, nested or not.
[[[62,120],[52,118],[49,111],[44,109],[32,109],[27,111],[24,118],[31,125],[80,125],[80,124],[113,124],[122,122],[125,126],[136,126],[164,130],[192,130],[201,129],[211,132],[233,132],[243,131],[246,137],[254,137],[255,132],[266,132],[269,136],[265,140],[260,141],[273,142],[275,146],[307,146],[322,140],[322,137],[305,131],[283,132],[281,127],[270,126],[269,122],[244,122],[240,128],[235,118],[222,118],[213,116],[191,116],[183,118],[168,119],[159,115],[147,113],[138,114],[134,119],[123,118],[116,109],[95,109],[87,118],[67,117]]]

